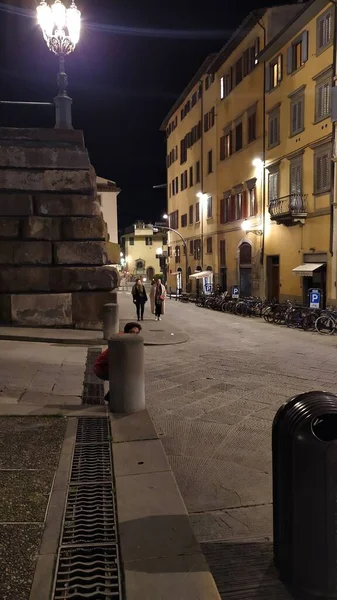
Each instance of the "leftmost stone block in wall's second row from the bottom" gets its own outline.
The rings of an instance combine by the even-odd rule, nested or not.
[[[49,292],[49,271],[48,267],[2,267],[0,292]]]

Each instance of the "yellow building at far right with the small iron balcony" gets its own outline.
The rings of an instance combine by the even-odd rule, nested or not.
[[[262,52],[266,73],[265,279],[269,297],[334,303],[333,3],[309,3]]]

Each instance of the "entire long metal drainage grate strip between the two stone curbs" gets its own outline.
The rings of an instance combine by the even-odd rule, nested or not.
[[[122,600],[110,424],[79,417],[53,600]]]

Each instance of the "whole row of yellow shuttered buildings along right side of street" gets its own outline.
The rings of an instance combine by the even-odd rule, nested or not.
[[[315,0],[248,15],[164,120],[168,214],[186,240],[187,279],[209,270],[214,285],[244,296],[302,300],[321,287],[333,299],[332,7]],[[323,266],[293,272],[307,261]],[[171,232],[172,287],[177,269],[185,280]]]

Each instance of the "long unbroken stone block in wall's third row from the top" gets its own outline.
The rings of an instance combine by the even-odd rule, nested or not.
[[[14,191],[95,193],[96,181],[91,170],[1,169],[0,189]]]

